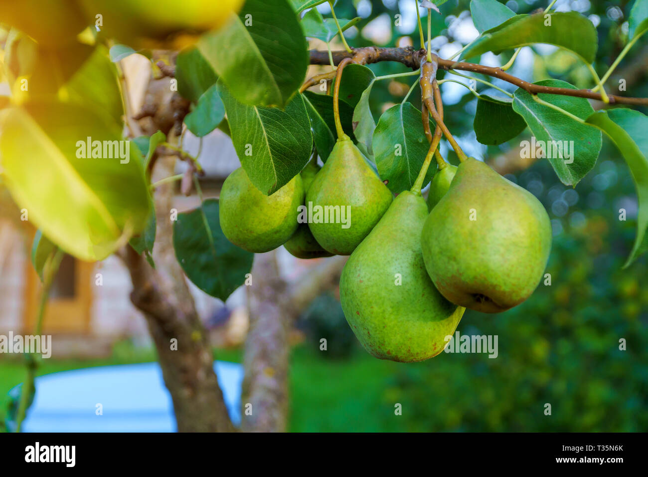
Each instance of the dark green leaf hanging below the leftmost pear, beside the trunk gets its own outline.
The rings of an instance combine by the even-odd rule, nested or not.
[[[178,214],[173,225],[176,258],[189,280],[223,301],[244,284],[254,254],[227,240],[218,219],[218,201],[207,199],[191,212]]]

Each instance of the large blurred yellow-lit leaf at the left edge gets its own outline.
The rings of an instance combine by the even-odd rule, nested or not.
[[[0,112],[3,178],[14,201],[52,242],[82,260],[103,260],[148,217],[139,150],[119,143],[121,134],[105,115],[71,103]],[[124,157],[115,151],[88,156],[87,138],[122,145]]]

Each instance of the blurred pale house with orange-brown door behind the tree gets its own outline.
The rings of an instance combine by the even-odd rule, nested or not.
[[[198,140],[185,134],[185,149],[198,152]],[[207,197],[217,197],[220,186],[240,164],[231,140],[220,130],[203,138],[200,162],[205,169],[201,179]],[[178,173],[185,164],[178,161]],[[174,206],[179,212],[198,205],[195,195],[176,195]],[[21,221],[20,211],[0,184],[0,334],[29,334],[34,330],[40,279],[30,260],[30,249],[36,228]],[[214,344],[235,345],[247,332],[244,291],[237,290],[227,300],[227,308],[209,297],[191,282],[189,286],[196,307],[208,326]],[[43,334],[56,336],[54,352],[62,354],[108,354],[111,343],[132,337],[148,342],[146,321],[130,302],[132,284],[128,270],[116,256],[97,263],[87,263],[65,256],[52,286]],[[220,320],[213,317],[220,313]],[[211,320],[211,321],[210,321]]]

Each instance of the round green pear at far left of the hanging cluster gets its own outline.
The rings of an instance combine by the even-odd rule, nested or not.
[[[272,195],[264,195],[239,167],[220,191],[220,228],[231,243],[248,252],[271,251],[297,230],[297,208],[303,200],[299,174]]]

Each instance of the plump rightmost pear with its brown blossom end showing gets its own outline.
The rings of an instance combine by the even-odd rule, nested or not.
[[[428,274],[446,299],[498,313],[538,286],[551,250],[551,223],[533,194],[468,158],[426,219],[421,247]]]

